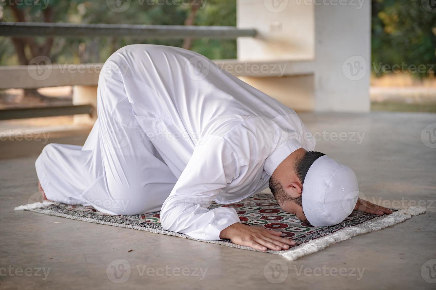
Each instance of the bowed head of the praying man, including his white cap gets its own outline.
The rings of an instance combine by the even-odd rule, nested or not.
[[[357,178],[351,168],[303,148],[279,164],[269,188],[283,210],[314,226],[342,222],[358,198]]]

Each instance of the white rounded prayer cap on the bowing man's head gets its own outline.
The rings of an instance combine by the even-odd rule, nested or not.
[[[351,214],[358,196],[354,171],[324,155],[313,162],[304,178],[303,212],[313,226],[336,225]]]

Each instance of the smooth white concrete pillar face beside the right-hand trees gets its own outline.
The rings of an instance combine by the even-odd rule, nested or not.
[[[315,6],[315,109],[369,112],[371,1],[326,3]]]

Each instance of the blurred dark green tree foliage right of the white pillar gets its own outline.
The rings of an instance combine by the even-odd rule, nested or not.
[[[436,13],[425,10],[421,3],[372,0],[371,58],[375,75],[383,73],[380,65],[402,64],[406,70],[411,65],[425,65],[425,72],[414,74],[419,77],[435,74]]]

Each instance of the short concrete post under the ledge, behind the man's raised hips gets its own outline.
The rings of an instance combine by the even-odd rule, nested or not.
[[[96,85],[75,85],[73,86],[73,105],[90,104],[94,107],[94,114],[75,115],[75,124],[93,124],[97,119],[97,86]]]

